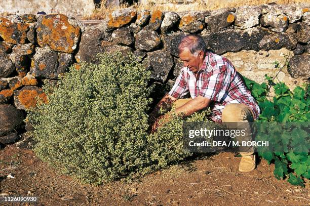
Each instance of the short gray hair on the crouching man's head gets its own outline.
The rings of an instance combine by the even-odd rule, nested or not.
[[[204,52],[204,54],[206,54],[206,52],[208,51],[204,39],[201,36],[196,35],[196,34],[186,35],[180,40],[180,43],[178,46],[179,54],[185,48],[187,48],[191,54],[194,54],[201,50]]]

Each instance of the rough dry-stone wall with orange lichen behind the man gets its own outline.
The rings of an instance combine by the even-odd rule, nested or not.
[[[123,9],[95,26],[61,14],[1,17],[0,143],[12,144],[31,130],[25,109],[47,102],[44,84],[55,84],[70,65],[98,63],[98,52],[133,52],[169,90],[182,67],[179,39],[198,33],[244,76],[261,83],[264,74],[273,75],[293,89],[310,77],[309,31],[306,4],[183,13]]]

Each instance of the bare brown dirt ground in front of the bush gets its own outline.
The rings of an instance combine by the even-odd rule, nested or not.
[[[10,145],[0,155],[0,193],[38,198],[22,205],[310,205],[308,180],[305,188],[277,180],[274,165],[265,160],[256,170],[240,173],[240,157],[232,153],[101,186],[57,174],[31,150]],[[10,173],[15,178],[7,178]]]

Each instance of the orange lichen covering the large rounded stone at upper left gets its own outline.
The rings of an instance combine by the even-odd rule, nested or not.
[[[41,26],[47,29],[41,28]],[[37,42],[40,46],[49,45],[52,50],[65,53],[74,52],[74,46],[81,34],[80,27],[69,24],[68,17],[63,14],[43,17],[42,25],[37,28],[37,31],[48,32],[48,35],[37,35]],[[74,37],[78,38],[75,39]]]

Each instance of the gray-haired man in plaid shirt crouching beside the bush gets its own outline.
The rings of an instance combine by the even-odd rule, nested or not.
[[[207,50],[199,35],[184,36],[178,46],[183,68],[171,91],[157,104],[150,117],[155,121],[160,108],[172,104],[177,113],[192,113],[210,107],[211,119],[216,122],[251,122],[258,118],[260,109],[231,62]],[[190,94],[191,99],[182,99]],[[157,122],[153,125],[156,130]],[[249,139],[249,141],[251,141]],[[239,171],[255,169],[254,148],[242,155]]]

